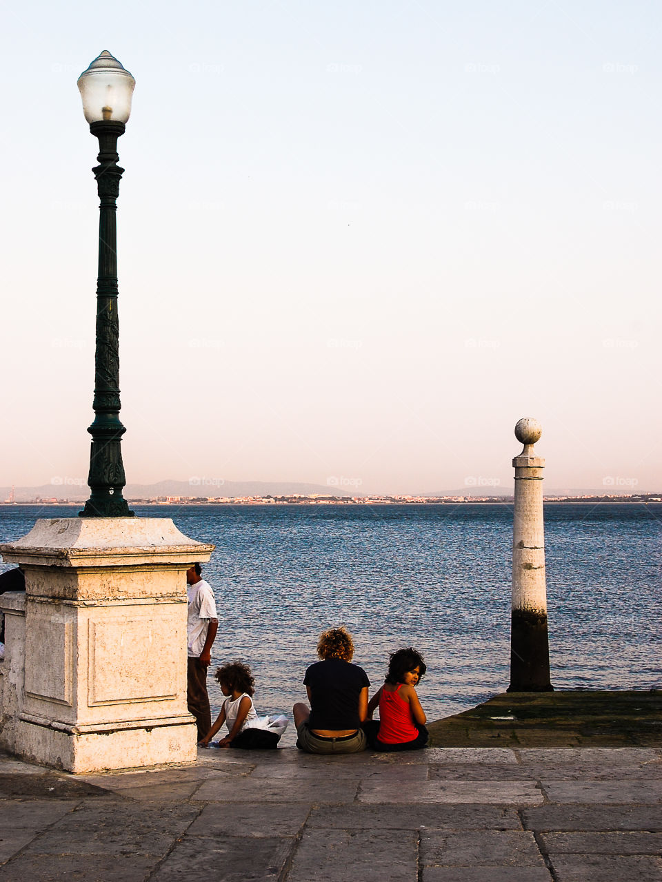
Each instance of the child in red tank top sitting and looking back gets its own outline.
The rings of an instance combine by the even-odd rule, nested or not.
[[[427,744],[425,712],[415,688],[426,670],[422,655],[413,647],[391,654],[384,685],[370,699],[364,723],[373,751],[415,751]],[[379,722],[372,720],[378,705]]]

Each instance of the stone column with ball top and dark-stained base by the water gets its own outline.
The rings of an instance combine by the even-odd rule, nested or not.
[[[549,675],[545,589],[545,460],[536,456],[533,450],[541,435],[540,423],[530,417],[515,426],[515,437],[524,449],[513,460],[515,510],[509,692],[553,690]]]

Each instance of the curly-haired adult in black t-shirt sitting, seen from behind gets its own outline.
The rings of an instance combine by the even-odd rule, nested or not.
[[[304,685],[311,706],[293,707],[297,747],[308,753],[357,753],[367,745],[361,724],[368,713],[365,670],[350,664],[354,655],[351,634],[330,628],[320,635],[315,662],[305,672]]]

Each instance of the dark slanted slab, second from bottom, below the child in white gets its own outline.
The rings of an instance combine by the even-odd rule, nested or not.
[[[211,804],[199,813],[187,836],[296,836],[310,815],[309,804]]]

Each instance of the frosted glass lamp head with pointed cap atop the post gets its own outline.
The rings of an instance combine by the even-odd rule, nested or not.
[[[122,64],[103,50],[79,76],[83,113],[88,123],[126,123],[136,81]]]

